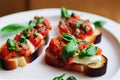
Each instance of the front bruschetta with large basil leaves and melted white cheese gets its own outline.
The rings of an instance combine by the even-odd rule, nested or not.
[[[71,34],[52,38],[46,48],[45,62],[54,67],[101,76],[107,70],[107,58],[93,43],[76,39]]]

